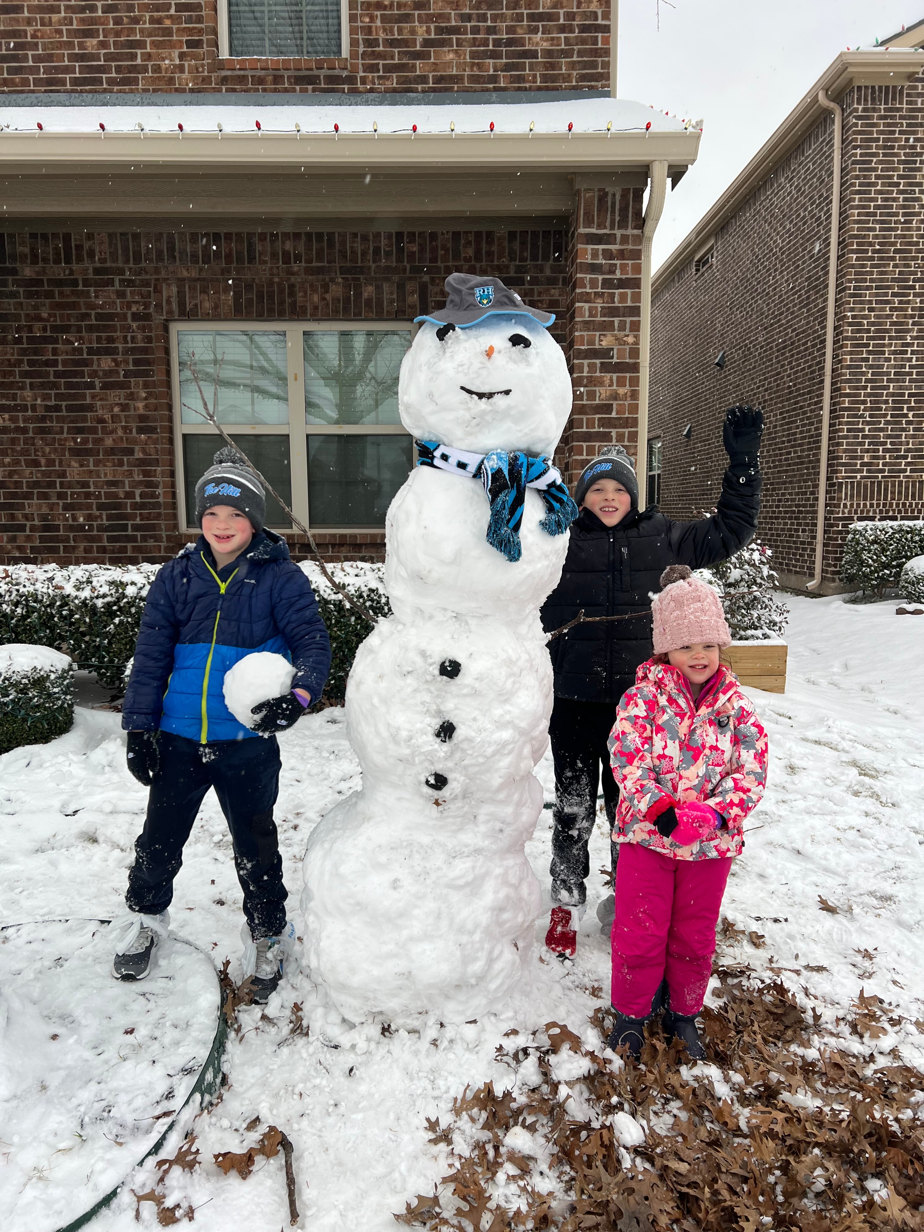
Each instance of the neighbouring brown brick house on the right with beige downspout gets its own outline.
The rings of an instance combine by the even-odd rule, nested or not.
[[[924,515],[919,41],[924,22],[840,54],[653,280],[649,489],[675,516],[710,509],[723,410],[761,405],[760,536],[786,584],[821,593],[843,589],[851,522]],[[837,117],[819,91],[843,115],[834,267]]]

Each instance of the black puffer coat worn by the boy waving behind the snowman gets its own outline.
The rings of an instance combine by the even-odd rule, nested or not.
[[[572,524],[562,579],[542,606],[546,632],[585,616],[636,620],[577,625],[549,643],[556,697],[612,702],[636,683],[636,668],[653,653],[652,601],[669,564],[702,569],[727,559],[758,529],[760,473],[742,483],[728,471],[716,513],[694,522],[632,511],[612,529],[589,509]]]

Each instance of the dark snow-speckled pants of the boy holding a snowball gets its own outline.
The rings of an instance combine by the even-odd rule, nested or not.
[[[276,737],[197,744],[161,732],[159,744],[160,768],[128,873],[128,909],[158,915],[170,906],[182,849],[206,792],[214,787],[234,844],[250,934],[254,940],[278,936],[286,926],[288,894],[272,819],[281,768]]]

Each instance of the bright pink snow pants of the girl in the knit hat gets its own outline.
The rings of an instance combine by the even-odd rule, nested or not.
[[[716,952],[716,922],[731,857],[673,860],[638,843],[621,843],[612,922],[612,1004],[646,1018],[667,977],[670,1008],[702,1009]]]

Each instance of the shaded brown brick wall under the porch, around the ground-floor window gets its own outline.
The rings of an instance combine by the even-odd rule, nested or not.
[[[567,260],[552,228],[0,233],[0,561],[160,561],[185,542],[171,319],[407,320],[462,270],[554,312],[563,342]],[[381,558],[383,538],[319,535],[331,558]]]

